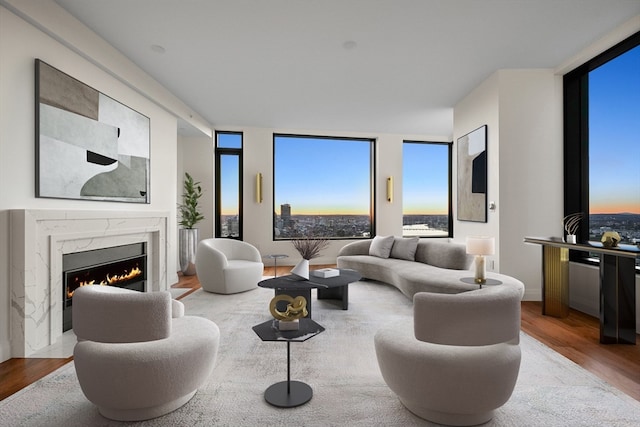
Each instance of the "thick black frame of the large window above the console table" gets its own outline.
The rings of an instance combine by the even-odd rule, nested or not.
[[[640,32],[585,62],[563,78],[564,215],[584,213],[577,235],[580,243],[589,240],[589,73],[637,46],[640,46]],[[599,264],[597,258],[582,251],[570,251],[570,260]]]

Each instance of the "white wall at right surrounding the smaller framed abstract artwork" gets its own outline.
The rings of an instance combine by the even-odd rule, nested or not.
[[[455,139],[483,124],[488,125],[488,200],[497,209],[489,211],[486,224],[456,221],[456,238],[495,236],[495,270],[521,280],[525,300],[539,301],[542,249],[523,239],[562,236],[562,77],[548,69],[497,71],[456,106]],[[598,316],[597,268],[572,263],[569,288],[571,307]]]

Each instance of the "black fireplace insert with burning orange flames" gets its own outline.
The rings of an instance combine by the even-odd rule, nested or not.
[[[65,254],[62,258],[62,331],[73,327],[73,293],[81,286],[118,286],[144,292],[146,243]]]

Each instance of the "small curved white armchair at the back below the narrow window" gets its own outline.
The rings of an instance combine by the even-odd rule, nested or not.
[[[202,289],[235,294],[255,289],[264,264],[258,249],[241,240],[204,239],[196,251],[196,274]]]

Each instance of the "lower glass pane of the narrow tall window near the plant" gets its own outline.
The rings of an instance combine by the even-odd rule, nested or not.
[[[238,155],[220,156],[220,236],[239,237],[240,218],[240,158]]]

